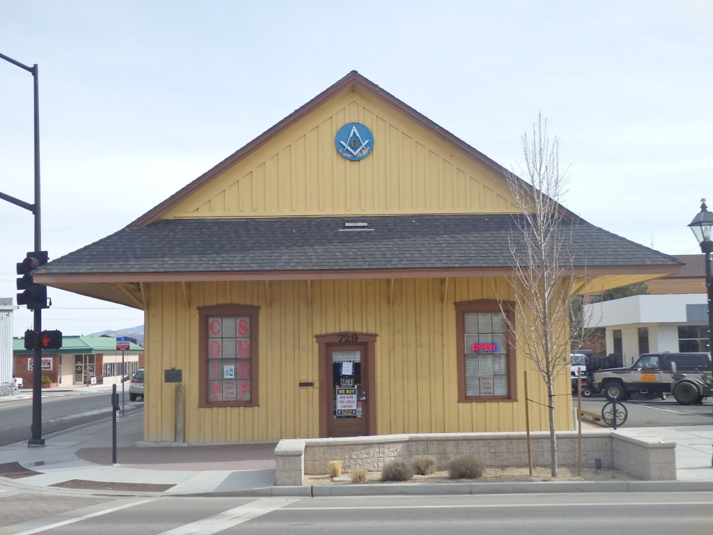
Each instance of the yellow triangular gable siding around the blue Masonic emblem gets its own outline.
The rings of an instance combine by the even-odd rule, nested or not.
[[[337,130],[361,122],[374,148],[347,161]],[[179,203],[165,218],[517,211],[486,170],[381,101],[346,93],[287,128]]]

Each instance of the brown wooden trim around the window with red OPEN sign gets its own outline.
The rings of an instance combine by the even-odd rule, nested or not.
[[[456,303],[456,350],[458,351],[458,402],[516,402],[518,400],[517,368],[515,366],[515,350],[513,348],[513,332],[515,327],[515,304],[512,302],[503,302],[501,304],[495,300],[468,301]],[[465,326],[463,315],[465,312],[505,312],[508,318],[508,332],[506,339],[508,344],[507,362],[508,362],[508,395],[507,396],[466,396],[466,355],[463,347],[465,340]]]

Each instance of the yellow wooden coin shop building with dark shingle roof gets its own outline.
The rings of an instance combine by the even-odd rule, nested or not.
[[[190,443],[519,431],[529,365],[497,301],[518,306],[503,173],[352,72],[35,280],[145,311],[148,442],[181,425]],[[590,288],[679,270],[565,222]],[[531,427],[548,429],[543,384],[529,387]],[[559,429],[568,392],[563,374]]]

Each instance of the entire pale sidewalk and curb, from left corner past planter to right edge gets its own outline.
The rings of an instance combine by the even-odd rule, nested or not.
[[[483,492],[713,491],[713,426],[621,428],[634,436],[674,441],[677,481],[557,481],[468,484],[275,486],[275,443],[154,445],[143,439],[143,412],[117,424],[113,464],[111,419],[0,447],[0,477],[28,487],[139,494],[326,496],[343,494],[478,494]],[[587,429],[601,431],[601,427]],[[586,429],[583,428],[583,432]]]

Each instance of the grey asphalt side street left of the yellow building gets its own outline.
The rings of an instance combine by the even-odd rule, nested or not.
[[[21,398],[0,400],[0,446],[32,437],[32,399],[21,395]],[[143,401],[130,402],[128,397],[127,391],[124,400],[126,412],[143,409]],[[42,437],[103,418],[111,419],[111,394],[108,392],[43,392]]]

